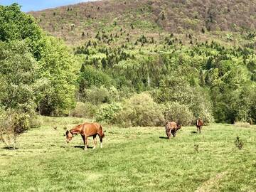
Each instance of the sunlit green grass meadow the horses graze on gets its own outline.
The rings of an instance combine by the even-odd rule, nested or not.
[[[17,150],[0,145],[0,191],[256,191],[256,127],[182,127],[169,140],[164,127],[105,126],[103,149],[97,138],[97,149],[84,151],[80,136],[63,137],[84,119],[43,119]]]

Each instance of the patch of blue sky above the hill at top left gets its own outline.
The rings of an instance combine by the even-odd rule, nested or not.
[[[90,0],[0,0],[0,5],[10,5],[13,3],[18,3],[21,5],[21,10],[27,11],[38,11],[42,9],[54,8],[57,6],[64,6],[69,4],[77,4],[80,2],[86,2]]]

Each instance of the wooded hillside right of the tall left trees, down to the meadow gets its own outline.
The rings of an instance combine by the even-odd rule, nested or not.
[[[90,103],[80,108],[99,121],[144,126],[163,118],[256,122],[255,11],[255,0],[110,0],[30,14],[73,47],[81,63],[77,100]],[[134,95],[145,91],[150,97]],[[151,98],[167,107],[163,116]],[[130,108],[136,100],[146,100],[154,120],[132,119],[143,113]]]

